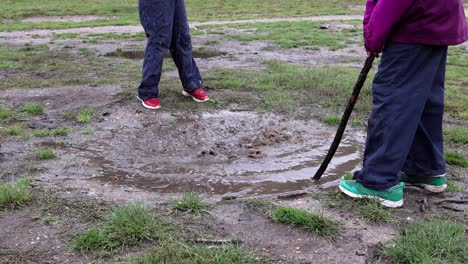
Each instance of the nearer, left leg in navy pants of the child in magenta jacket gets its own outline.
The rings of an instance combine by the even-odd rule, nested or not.
[[[440,49],[388,43],[373,82],[363,169],[355,178],[385,190],[399,184],[398,173],[410,151],[441,61]]]

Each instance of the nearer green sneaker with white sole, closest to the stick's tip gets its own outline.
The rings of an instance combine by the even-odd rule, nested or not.
[[[403,206],[403,188],[405,184],[400,182],[390,189],[372,190],[356,180],[344,180],[340,183],[340,190],[353,198],[371,198],[378,200],[383,206],[397,208]]]

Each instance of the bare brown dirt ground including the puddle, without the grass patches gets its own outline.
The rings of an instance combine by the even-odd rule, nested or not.
[[[32,19],[43,21],[42,18]],[[76,21],[82,21],[79,19],[97,17],[82,17]],[[209,25],[213,24],[216,23]],[[194,24],[195,27],[201,25],[207,23]],[[83,35],[138,33],[141,28],[58,31],[66,32]],[[53,33],[57,32],[0,32],[0,43],[49,44]],[[37,35],[39,37],[33,37]],[[214,40],[219,40],[219,36],[202,34],[193,37],[195,47]],[[69,49],[72,52],[86,48],[96,56],[105,56],[117,49],[136,50],[132,59],[138,65],[144,42],[105,40],[83,43],[79,39],[60,39],[49,46],[51,50]],[[219,41],[210,46],[217,54],[196,57],[202,71],[207,72],[221,67],[263,68],[262,61],[269,59],[300,65],[340,63],[357,66],[363,56],[363,50],[356,45],[337,51],[269,48],[271,46],[262,41]],[[122,60],[119,57],[109,59]],[[7,76],[8,73],[0,71],[0,81],[2,74]],[[177,76],[174,70],[165,74]],[[117,256],[80,255],[69,248],[69,239],[102,220],[112,205],[138,200],[158,212],[166,212],[170,202],[180,197],[183,191],[201,194],[211,204],[209,213],[202,218],[174,214],[167,218],[183,222],[193,231],[194,238],[240,240],[265,256],[267,263],[375,263],[376,248],[394,238],[399,225],[441,215],[466,218],[463,212],[466,208],[443,202],[445,199],[463,199],[465,193],[426,197],[424,192],[409,189],[405,194],[405,207],[392,211],[399,221],[396,225],[368,223],[359,213],[339,206],[330,207],[317,197],[315,193],[319,191],[333,192],[346,172],[360,167],[365,143],[363,127],[348,128],[324,178],[316,183],[311,177],[335,132],[333,127],[316,118],[259,112],[234,103],[218,111],[147,111],[136,99],[123,98],[122,92],[123,88],[118,85],[11,87],[1,91],[0,104],[15,107],[27,101],[44,106],[45,115],[28,119],[29,128],[64,125],[74,128],[65,137],[25,140],[2,136],[0,139],[2,180],[32,176],[38,197],[27,207],[0,212],[1,263],[125,261],[148,245]],[[211,92],[214,98],[218,96],[217,90]],[[96,109],[96,118],[87,124],[93,128],[90,135],[80,132],[82,124],[64,116],[67,111],[86,106]],[[326,110],[317,107],[315,111]],[[37,147],[53,148],[58,158],[34,160],[30,150]],[[448,174],[466,189],[466,169],[449,166]],[[295,191],[307,191],[308,194],[293,199],[278,198],[280,194]],[[265,204],[324,213],[342,225],[340,234],[336,239],[323,239],[301,229],[274,223],[263,210]],[[447,209],[450,206],[452,209],[458,206],[458,209]]]

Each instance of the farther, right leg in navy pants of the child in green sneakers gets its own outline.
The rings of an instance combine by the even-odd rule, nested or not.
[[[447,47],[434,48],[442,54],[432,85],[431,95],[413,140],[402,171],[413,178],[445,174],[442,118],[444,114],[444,83]],[[439,56],[440,57],[440,56]]]

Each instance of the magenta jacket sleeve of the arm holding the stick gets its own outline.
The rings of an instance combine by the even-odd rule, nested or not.
[[[393,27],[400,22],[414,0],[368,0],[364,15],[367,51],[381,52]]]

